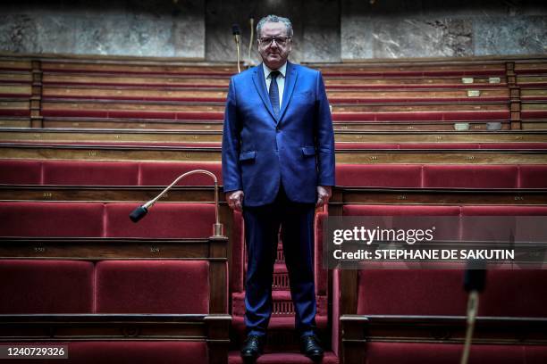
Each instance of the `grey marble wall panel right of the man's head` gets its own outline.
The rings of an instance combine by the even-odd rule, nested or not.
[[[341,58],[547,54],[543,1],[341,0]]]

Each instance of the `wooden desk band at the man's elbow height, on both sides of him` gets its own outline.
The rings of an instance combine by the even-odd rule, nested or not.
[[[128,145],[0,145],[4,158],[70,159],[86,161],[221,161],[221,149],[174,146]],[[353,149],[336,151],[339,163],[452,163],[452,164],[543,164],[542,150],[390,150]]]

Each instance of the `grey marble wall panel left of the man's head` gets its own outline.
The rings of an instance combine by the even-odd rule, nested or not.
[[[4,2],[0,50],[203,58],[204,9],[200,0]]]

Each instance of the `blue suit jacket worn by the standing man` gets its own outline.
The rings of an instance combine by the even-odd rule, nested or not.
[[[315,203],[316,186],[334,186],[334,136],[323,77],[290,62],[277,118],[262,64],[231,78],[224,115],[224,192],[243,190],[245,206],[261,206],[273,203],[280,182],[297,203]]]

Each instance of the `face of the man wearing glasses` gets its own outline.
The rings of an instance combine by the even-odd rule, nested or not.
[[[260,31],[260,38],[257,40],[258,53],[270,70],[277,70],[287,62],[292,49],[292,40],[289,38],[284,44],[282,41],[278,44],[277,41],[264,42],[261,39],[285,39],[286,37],[290,37],[290,34],[287,34],[287,27],[282,22],[267,22]]]

